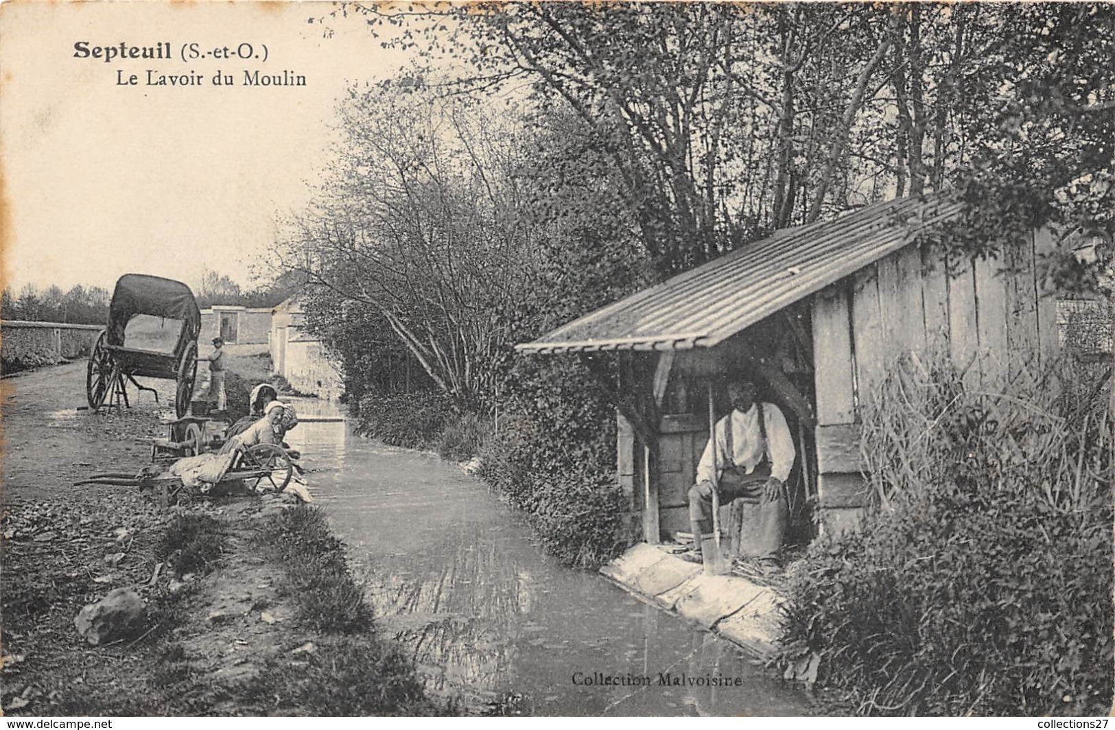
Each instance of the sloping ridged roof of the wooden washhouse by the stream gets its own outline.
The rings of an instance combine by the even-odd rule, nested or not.
[[[869,205],[784,228],[565,324],[522,352],[711,348],[778,310],[898,251],[962,204],[942,197]]]

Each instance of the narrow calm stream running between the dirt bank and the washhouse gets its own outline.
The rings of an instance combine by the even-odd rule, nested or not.
[[[312,400],[297,407],[336,415]],[[341,421],[303,422],[288,441],[313,469],[310,491],[349,545],[385,632],[409,648],[430,691],[459,698],[465,711],[808,712],[735,644],[558,564],[454,465],[360,438]]]

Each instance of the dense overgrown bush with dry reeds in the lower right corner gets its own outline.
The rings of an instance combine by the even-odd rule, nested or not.
[[[1106,713],[1109,378],[996,393],[895,369],[864,424],[881,506],[795,571],[787,675],[812,659],[869,714]]]

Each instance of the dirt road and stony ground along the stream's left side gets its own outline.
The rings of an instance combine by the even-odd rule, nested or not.
[[[377,671],[390,646],[370,631],[324,630],[321,616],[331,606],[307,606],[307,596],[348,596],[338,610],[352,611],[360,593],[338,541],[313,538],[330,564],[342,566],[324,577],[304,568],[294,575],[289,556],[274,547],[307,544],[299,519],[288,520],[285,533],[280,524],[294,514],[287,513],[293,495],[195,495],[164,513],[153,490],[72,486],[94,473],[149,465],[151,438],[166,436],[162,418],[174,382],[145,385],[159,389],[159,405],[133,391],[132,409],[95,413],[78,410],[86,405],[85,363],[0,381],[3,713],[429,711],[405,663],[395,662],[399,669],[387,680]],[[203,558],[183,568],[186,553]],[[145,602],[147,629],[90,645],[74,619],[119,587]],[[352,692],[339,699],[330,694],[338,666],[352,677],[346,688]],[[392,695],[385,681],[410,689]]]

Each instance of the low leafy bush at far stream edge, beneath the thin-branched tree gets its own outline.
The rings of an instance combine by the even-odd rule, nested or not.
[[[389,446],[428,449],[442,437],[446,411],[433,393],[372,392],[360,399],[358,429]]]

